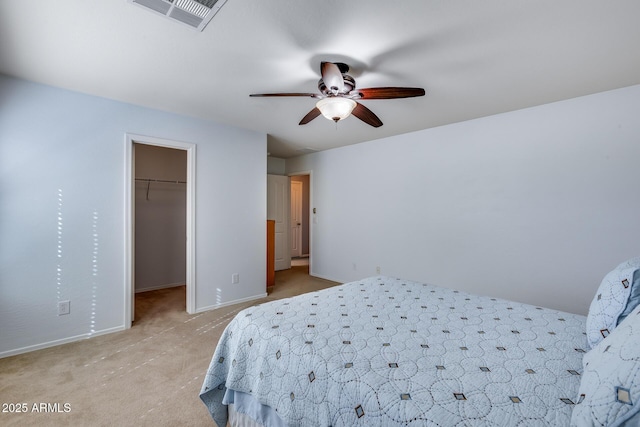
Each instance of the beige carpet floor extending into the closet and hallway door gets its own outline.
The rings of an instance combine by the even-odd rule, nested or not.
[[[336,285],[307,271],[277,272],[266,299],[195,315],[184,287],[141,293],[129,330],[0,359],[0,411],[26,409],[0,412],[0,425],[215,425],[198,394],[222,331],[250,305]]]

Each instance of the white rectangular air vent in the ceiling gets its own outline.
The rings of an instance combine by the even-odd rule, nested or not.
[[[199,31],[204,30],[211,18],[227,0],[127,0],[151,9],[155,13],[181,22]]]

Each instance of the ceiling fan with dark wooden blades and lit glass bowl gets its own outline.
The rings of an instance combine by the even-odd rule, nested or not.
[[[322,114],[329,120],[338,122],[353,114],[363,122],[373,126],[382,126],[382,121],[373,111],[358,102],[361,99],[395,99],[423,96],[424,89],[417,87],[372,87],[356,89],[356,81],[348,75],[349,66],[342,62],[322,62],[318,81],[320,93],[254,93],[249,96],[308,96],[319,101],[313,110],[300,120],[306,125]]]

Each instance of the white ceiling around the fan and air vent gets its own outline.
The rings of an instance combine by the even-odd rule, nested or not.
[[[0,0],[0,72],[267,133],[292,157],[640,84],[637,0],[228,0],[203,32],[126,0]],[[299,126],[320,62],[358,87],[424,87],[362,103],[384,125]]]

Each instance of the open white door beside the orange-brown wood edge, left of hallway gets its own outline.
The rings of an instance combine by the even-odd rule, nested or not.
[[[291,250],[289,249],[289,189],[288,176],[267,175],[267,219],[275,220],[275,269],[291,268]]]

